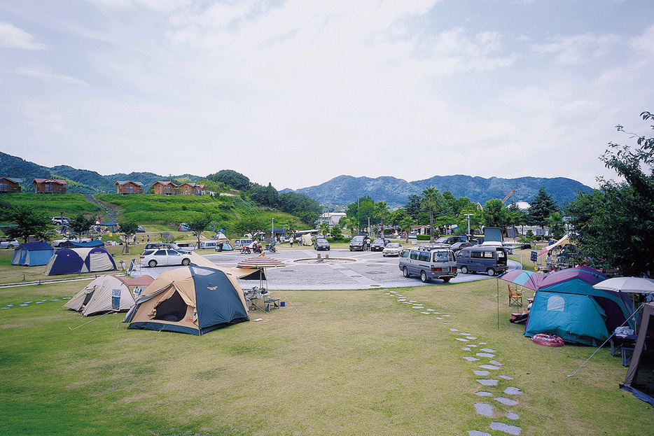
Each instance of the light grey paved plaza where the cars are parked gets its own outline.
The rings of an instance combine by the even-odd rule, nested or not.
[[[215,253],[213,251],[196,251],[211,262],[221,267],[235,267],[241,260],[252,257],[238,251]],[[334,289],[371,289],[401,288],[405,286],[424,286],[425,284],[443,285],[447,283],[435,280],[422,283],[419,277],[405,279],[399,269],[398,258],[384,258],[379,251],[354,251],[333,249],[316,252],[312,248],[279,250],[265,255],[281,260],[285,267],[267,268],[267,288],[270,290],[334,290]],[[321,260],[318,260],[321,255]],[[328,257],[328,258],[327,258]],[[509,268],[520,266],[509,260]],[[144,274],[158,276],[162,272],[176,267],[142,267]],[[450,283],[490,279],[483,274],[459,274]]]

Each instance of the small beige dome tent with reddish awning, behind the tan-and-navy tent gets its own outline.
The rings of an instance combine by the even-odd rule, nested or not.
[[[154,279],[141,276],[137,279],[119,276],[99,276],[85,286],[64,307],[80,312],[83,316],[109,311],[127,311],[134,306],[130,286],[149,286]]]

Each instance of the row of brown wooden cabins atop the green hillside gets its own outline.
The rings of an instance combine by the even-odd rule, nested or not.
[[[0,193],[20,192],[22,179],[13,177],[0,177]],[[66,181],[58,178],[34,178],[32,185],[37,194],[65,194]],[[143,194],[143,183],[135,181],[117,181],[116,194]],[[152,188],[155,194],[163,195],[204,195],[204,185],[199,183],[185,182],[181,185],[169,181],[158,181],[153,183]]]

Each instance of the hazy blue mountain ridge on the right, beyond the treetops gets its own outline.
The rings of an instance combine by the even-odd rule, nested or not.
[[[468,197],[471,202],[485,204],[489,199],[503,199],[512,190],[511,199],[531,202],[538,189],[545,187],[555,202],[569,202],[578,191],[590,192],[592,188],[571,178],[556,177],[520,177],[520,178],[483,178],[464,176],[433,176],[424,180],[408,182],[394,177],[352,177],[338,176],[330,181],[309,188],[300,188],[294,192],[308,195],[326,206],[342,206],[356,202],[360,197],[369,196],[376,202],[385,201],[391,209],[404,206],[410,195],[420,193],[430,186],[440,192],[450,191],[455,198]],[[284,190],[287,192],[291,190]],[[508,200],[510,201],[510,200]]]

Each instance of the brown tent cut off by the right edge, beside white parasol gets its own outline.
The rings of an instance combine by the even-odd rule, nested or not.
[[[654,302],[648,302],[643,307],[640,329],[634,346],[634,354],[629,363],[625,383],[620,389],[629,391],[639,400],[654,406],[654,349],[645,346],[649,336],[654,336]]]

